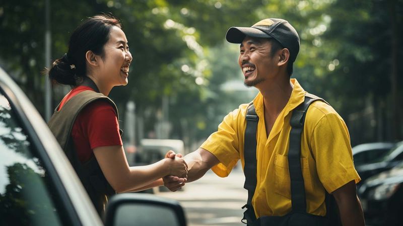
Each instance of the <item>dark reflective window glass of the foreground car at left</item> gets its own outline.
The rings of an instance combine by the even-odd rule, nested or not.
[[[0,225],[63,225],[61,201],[35,145],[0,93]]]

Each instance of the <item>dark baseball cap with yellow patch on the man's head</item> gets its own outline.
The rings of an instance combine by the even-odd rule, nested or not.
[[[242,43],[246,36],[255,38],[274,38],[290,51],[290,60],[294,62],[299,52],[299,36],[288,21],[283,19],[264,19],[252,27],[231,27],[226,39],[231,43]]]

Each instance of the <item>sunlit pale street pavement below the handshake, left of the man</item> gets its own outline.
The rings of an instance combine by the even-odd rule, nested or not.
[[[226,178],[211,170],[199,180],[186,184],[182,191],[157,192],[156,195],[178,200],[185,210],[188,226],[240,226],[247,191],[245,176],[238,164]]]

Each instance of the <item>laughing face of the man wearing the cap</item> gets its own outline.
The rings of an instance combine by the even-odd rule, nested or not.
[[[271,56],[271,42],[267,38],[246,36],[240,46],[238,64],[245,76],[244,84],[254,86],[263,83],[277,69]]]

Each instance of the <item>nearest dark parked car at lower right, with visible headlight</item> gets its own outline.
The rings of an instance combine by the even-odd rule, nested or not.
[[[368,178],[358,196],[368,225],[402,225],[403,162]]]

